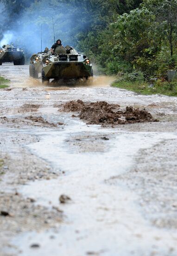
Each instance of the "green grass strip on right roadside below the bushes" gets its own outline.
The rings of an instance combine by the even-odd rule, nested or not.
[[[123,88],[139,94],[164,94],[168,96],[177,96],[177,82],[156,82],[150,88],[150,83],[138,81],[115,81],[112,86]]]

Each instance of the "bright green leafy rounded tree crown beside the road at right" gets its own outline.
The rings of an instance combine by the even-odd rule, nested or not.
[[[142,71],[149,69],[148,73],[151,74],[152,59],[160,44],[160,38],[152,29],[154,21],[155,15],[146,7],[119,15],[112,24],[116,31],[114,57],[119,57]]]

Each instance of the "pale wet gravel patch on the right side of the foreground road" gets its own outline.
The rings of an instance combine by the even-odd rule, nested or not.
[[[176,143],[177,139],[164,139],[141,150],[131,171],[105,181],[114,186],[123,183],[136,190],[144,217],[158,228],[173,230],[177,229]]]

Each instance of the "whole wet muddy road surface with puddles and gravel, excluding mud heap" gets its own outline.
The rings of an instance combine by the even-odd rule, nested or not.
[[[0,256],[176,256],[177,97],[43,86],[2,65]],[[87,124],[68,101],[145,108],[158,122]]]

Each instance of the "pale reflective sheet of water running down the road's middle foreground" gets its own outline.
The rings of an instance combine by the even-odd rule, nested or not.
[[[72,148],[67,145],[71,136],[82,141],[86,134],[109,138],[104,140],[107,151],[76,153],[75,145]],[[54,252],[52,248],[63,256],[151,255],[154,248],[157,255],[168,255],[176,244],[177,235],[161,229],[160,238],[156,240],[159,230],[141,215],[136,194],[121,184],[111,186],[106,180],[129,171],[139,149],[150,148],[164,138],[174,136],[120,133],[112,128],[87,126],[76,119],[70,120],[70,126],[66,126],[62,133],[39,132],[40,141],[27,147],[50,162],[61,175],[55,180],[31,182],[19,192],[49,209],[59,207],[65,217],[58,229],[16,236],[13,244],[21,251],[20,255],[48,256]],[[71,202],[61,204],[61,194],[70,196]],[[32,243],[39,247],[31,248]]]

